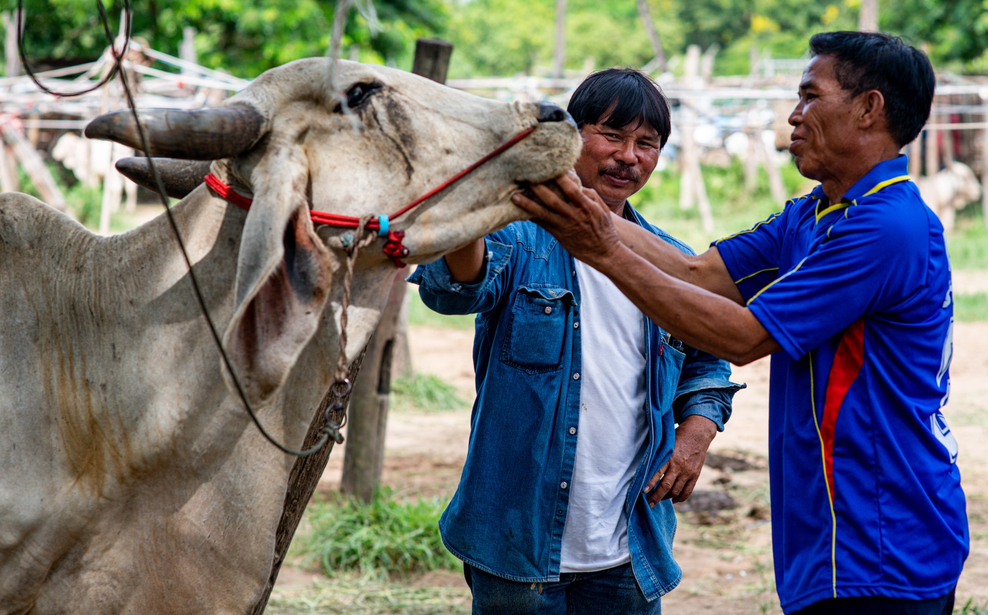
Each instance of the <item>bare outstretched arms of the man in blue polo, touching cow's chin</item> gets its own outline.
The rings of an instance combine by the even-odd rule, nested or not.
[[[733,286],[733,281],[719,255],[706,257],[706,265],[696,267],[693,260],[672,246],[666,250],[658,245],[658,238],[646,244],[643,235],[630,235],[638,251],[657,261],[653,265],[621,241],[615,216],[592,196],[592,191],[584,191],[569,177],[556,183],[568,200],[544,186],[535,186],[533,190],[541,203],[522,194],[516,195],[514,201],[534,215],[535,222],[552,233],[570,254],[610,277],[653,322],[686,344],[739,365],[782,349],[751,311],[739,304],[736,287],[735,294],[728,298],[731,293],[726,284]],[[642,248],[645,245],[647,250]],[[716,272],[717,261],[723,269],[720,274]],[[675,274],[703,286],[674,277]]]

